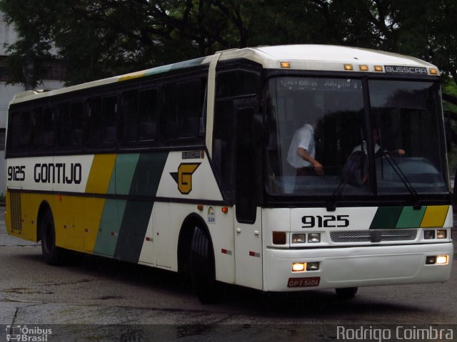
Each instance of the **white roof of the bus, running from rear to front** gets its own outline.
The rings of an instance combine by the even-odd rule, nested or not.
[[[353,66],[351,71],[362,71],[359,66],[364,65],[368,67],[368,72],[374,71],[374,66],[383,66],[382,73],[386,73],[385,66],[393,66],[396,73],[414,73],[411,71],[426,70],[427,75],[431,75],[430,69],[436,70],[433,76],[438,76],[439,71],[436,66],[426,61],[421,61],[418,58],[411,56],[403,56],[398,53],[390,53],[386,51],[376,51],[368,48],[353,48],[348,46],[331,46],[331,45],[285,45],[285,46],[259,46],[255,48],[233,48],[226,51],[216,52],[219,61],[228,61],[235,58],[246,58],[256,63],[261,64],[263,68],[281,68],[281,62],[288,63],[288,68],[297,70],[309,71],[344,71],[345,65],[350,64]],[[133,78],[141,78],[158,73],[165,73],[180,68],[189,68],[192,66],[199,66],[209,64],[214,56],[207,56],[196,58],[190,61],[184,61],[167,66],[159,66],[156,68],[139,71],[136,73],[129,73],[122,76],[114,76],[105,78],[99,81],[92,81],[83,83],[76,86],[61,88],[58,90],[51,90],[46,92],[39,92],[28,90],[14,95],[11,103],[23,102],[31,100],[32,98],[41,98],[51,95],[59,95],[75,90],[82,90],[96,86],[103,86],[109,83],[116,83],[120,81],[127,81]],[[405,71],[403,67],[410,67]],[[400,68],[400,69],[398,69]],[[400,70],[400,71],[398,71]],[[363,70],[366,72],[367,70]],[[417,72],[419,73],[419,72]],[[417,74],[416,73],[416,74]]]

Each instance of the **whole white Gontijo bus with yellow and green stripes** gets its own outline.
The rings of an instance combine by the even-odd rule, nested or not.
[[[312,164],[291,162],[302,150]],[[17,94],[6,224],[41,240],[49,264],[71,249],[177,271],[201,301],[219,282],[351,297],[449,278],[445,152],[429,63],[341,46],[220,51]]]

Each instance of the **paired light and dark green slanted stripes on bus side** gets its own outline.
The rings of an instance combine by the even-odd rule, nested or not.
[[[151,219],[154,197],[167,157],[168,152],[129,153],[117,155],[115,159],[106,161],[114,168],[111,174],[101,176],[105,181],[110,179],[109,183],[106,183],[105,191],[108,195],[122,197],[109,197],[104,202],[99,219],[99,233],[94,241],[94,254],[139,262]],[[98,172],[101,174],[103,165],[99,165],[102,170]]]

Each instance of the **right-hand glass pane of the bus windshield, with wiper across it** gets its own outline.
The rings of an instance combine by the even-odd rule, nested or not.
[[[371,123],[383,155],[376,158],[379,194],[408,192],[387,158],[416,192],[446,192],[439,134],[438,85],[416,81],[369,81]]]

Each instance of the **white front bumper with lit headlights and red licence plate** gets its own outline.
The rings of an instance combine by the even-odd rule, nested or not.
[[[426,264],[426,257],[438,255],[448,255],[448,263]],[[263,256],[264,291],[336,289],[446,281],[451,274],[453,244],[326,249],[266,247]],[[318,262],[319,269],[292,272],[293,262]],[[297,287],[291,287],[293,279],[298,279],[294,282]]]

